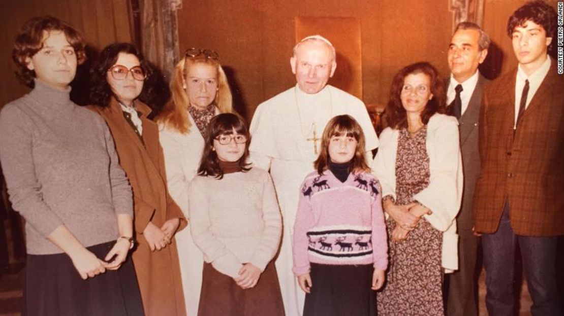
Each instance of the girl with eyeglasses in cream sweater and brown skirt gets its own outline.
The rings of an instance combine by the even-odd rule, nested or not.
[[[188,189],[193,241],[204,254],[199,316],[284,315],[272,258],[281,216],[268,172],[251,168],[239,115],[211,119]]]

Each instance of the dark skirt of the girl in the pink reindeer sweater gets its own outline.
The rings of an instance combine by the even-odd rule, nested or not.
[[[373,316],[376,292],[372,265],[311,264],[311,293],[303,316]]]

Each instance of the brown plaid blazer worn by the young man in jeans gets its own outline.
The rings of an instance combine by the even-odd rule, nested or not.
[[[473,207],[478,232],[496,232],[508,201],[515,234],[564,234],[564,76],[551,62],[514,136],[517,70],[486,87],[479,123],[482,173]]]

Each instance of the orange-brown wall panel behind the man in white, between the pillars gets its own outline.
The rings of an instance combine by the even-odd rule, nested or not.
[[[385,103],[391,77],[409,63],[428,60],[446,75],[452,28],[447,0],[184,1],[178,11],[180,47],[219,52],[235,73],[236,102],[250,119],[259,103],[296,83],[289,59],[300,16],[360,21],[365,103]]]

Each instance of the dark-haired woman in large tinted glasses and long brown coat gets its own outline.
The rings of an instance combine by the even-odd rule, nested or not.
[[[174,234],[186,226],[170,198],[157,124],[151,109],[153,73],[142,54],[129,43],[111,44],[95,61],[91,73],[91,106],[105,119],[120,164],[133,188],[137,247],[133,263],[147,315],[184,315],[177,245]]]

